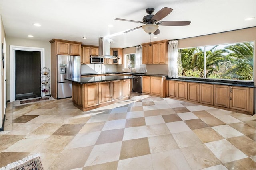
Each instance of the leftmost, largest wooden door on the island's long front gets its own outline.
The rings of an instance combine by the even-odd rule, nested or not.
[[[91,107],[91,106],[97,106],[99,104],[99,90],[98,90],[98,83],[88,83],[84,84],[85,86],[85,100],[84,100],[84,106]]]

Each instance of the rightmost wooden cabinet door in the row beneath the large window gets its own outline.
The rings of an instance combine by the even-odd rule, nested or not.
[[[230,108],[249,111],[249,88],[230,87]]]

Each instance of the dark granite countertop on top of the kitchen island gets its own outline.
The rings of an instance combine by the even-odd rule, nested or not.
[[[124,79],[132,79],[134,77],[131,76],[95,76],[95,77],[80,77],[80,78],[65,78],[65,80],[69,80],[71,82],[76,82],[80,84],[85,83],[95,83],[95,82],[108,82],[113,80],[124,80]]]

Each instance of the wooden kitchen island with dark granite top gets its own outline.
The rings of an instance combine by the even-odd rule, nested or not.
[[[131,76],[66,78],[72,82],[72,102],[82,111],[130,99]]]

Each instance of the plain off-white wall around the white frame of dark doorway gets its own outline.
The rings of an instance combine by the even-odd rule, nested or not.
[[[38,47],[45,50],[45,67],[51,69],[51,45],[49,41],[38,41],[33,38],[6,37],[6,78],[7,78],[7,100],[10,100],[10,45],[24,47]]]

